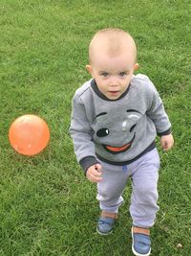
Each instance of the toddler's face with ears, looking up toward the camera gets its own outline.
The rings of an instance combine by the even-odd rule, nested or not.
[[[95,54],[92,65],[86,68],[96,80],[100,92],[110,100],[117,100],[129,86],[137,66],[133,53],[121,51],[112,56],[100,50]]]

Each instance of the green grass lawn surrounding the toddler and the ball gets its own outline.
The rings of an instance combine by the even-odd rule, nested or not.
[[[98,236],[96,185],[77,165],[68,133],[74,91],[90,79],[89,41],[105,27],[135,37],[138,72],[156,84],[173,125],[174,149],[159,150],[152,255],[191,255],[190,10],[189,0],[1,0],[0,256],[132,255],[131,186],[115,233]],[[28,113],[51,129],[49,146],[34,157],[8,140],[11,122]]]

